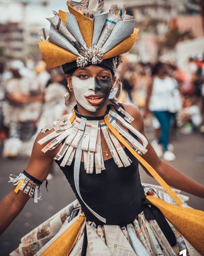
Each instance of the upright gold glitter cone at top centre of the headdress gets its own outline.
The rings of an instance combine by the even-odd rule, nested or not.
[[[87,47],[90,48],[92,44],[92,38],[93,38],[93,20],[77,12],[74,8],[72,8],[69,5],[68,5],[68,9],[69,9],[69,12],[76,17],[81,34],[83,36],[83,40],[87,44]]]

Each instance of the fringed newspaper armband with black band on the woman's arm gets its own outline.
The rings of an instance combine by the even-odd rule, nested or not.
[[[17,194],[19,190],[23,191],[25,194],[28,194],[31,198],[34,198],[34,202],[37,203],[37,200],[42,200],[41,187],[42,181],[35,179],[25,170],[23,173],[20,173],[19,176],[9,175],[9,182],[13,183],[13,186],[16,186],[14,192]]]

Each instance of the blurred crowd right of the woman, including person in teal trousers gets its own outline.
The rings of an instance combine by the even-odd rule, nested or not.
[[[189,58],[181,69],[172,61],[133,63],[124,59],[117,74],[123,82],[121,101],[136,105],[159,157],[175,160],[172,140],[178,133],[204,133],[204,56]]]

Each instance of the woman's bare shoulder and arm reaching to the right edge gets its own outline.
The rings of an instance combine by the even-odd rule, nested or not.
[[[139,112],[139,109],[131,104],[125,105],[124,107],[126,111],[134,118],[131,125],[133,125],[134,128],[136,128],[147,138],[143,118]],[[151,146],[150,142],[148,143],[147,150],[148,152],[142,157],[157,171],[157,173],[167,182],[168,185],[188,192],[192,195],[204,198],[204,186],[202,184],[189,178],[164,160],[161,160],[155,153],[155,150]],[[142,167],[149,174],[148,170],[146,170],[144,166]]]

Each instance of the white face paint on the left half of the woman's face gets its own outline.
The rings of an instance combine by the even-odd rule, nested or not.
[[[86,97],[90,95],[96,95],[94,91],[94,77],[88,78],[86,80],[81,80],[79,77],[72,77],[71,78],[74,95],[76,101],[84,108],[90,112],[96,112],[97,106],[93,106],[90,104]]]

